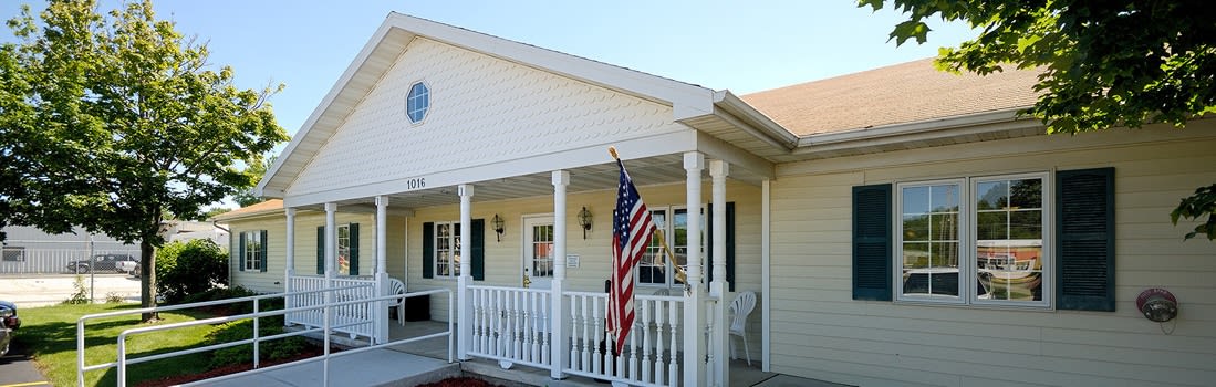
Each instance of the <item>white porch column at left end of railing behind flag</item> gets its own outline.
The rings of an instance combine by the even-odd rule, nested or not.
[[[460,279],[457,280],[457,316],[456,316],[456,357],[461,360],[471,359],[468,355],[469,344],[473,338],[473,299],[468,286],[473,284],[473,241],[471,225],[473,224],[473,185],[461,184],[457,187],[460,194]]]

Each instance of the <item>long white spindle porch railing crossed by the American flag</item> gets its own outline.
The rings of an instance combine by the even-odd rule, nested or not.
[[[677,386],[682,377],[683,297],[636,296],[634,327],[620,354],[604,337],[606,293],[564,292],[568,315],[550,318],[552,292],[494,286],[469,286],[473,336],[469,355],[552,368],[551,346],[569,353],[563,372],[632,386]],[[567,337],[552,337],[563,324]]]

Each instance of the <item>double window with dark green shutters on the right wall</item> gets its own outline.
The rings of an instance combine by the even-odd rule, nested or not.
[[[854,187],[855,299],[1114,310],[1114,169],[891,187]]]

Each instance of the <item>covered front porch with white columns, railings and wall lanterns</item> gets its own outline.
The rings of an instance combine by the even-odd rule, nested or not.
[[[426,176],[418,178],[420,183],[426,183],[417,189],[316,204],[288,196],[285,198],[288,230],[285,291],[358,288],[347,296],[336,292],[336,297],[350,299],[360,295],[389,295],[390,279],[401,280],[407,292],[451,288],[456,298],[456,354],[460,360],[484,359],[514,369],[518,365],[544,370],[554,380],[582,376],[637,386],[722,385],[731,380],[732,374],[727,344],[731,338],[727,333],[731,324],[728,304],[733,299],[731,291],[734,282],[739,282],[738,277],[732,279],[733,271],[727,273],[727,257],[733,254],[734,248],[730,246],[732,253],[727,253],[727,230],[733,228],[727,226],[728,213],[733,217],[733,207],[728,211],[727,203],[734,200],[759,202],[760,206],[754,206],[760,208],[755,208],[756,217],[750,218],[754,223],[750,226],[760,232],[743,237],[759,247],[760,254],[751,252],[748,259],[762,267],[771,166],[742,157],[739,162],[751,168],[732,170],[727,159],[738,157],[731,157],[731,152],[714,156],[720,157],[709,158],[704,152],[687,151],[625,162],[634,181],[641,186],[643,201],[652,206],[666,204],[655,207],[670,207],[672,214],[681,212],[686,228],[677,232],[683,234],[681,237],[686,248],[679,258],[682,258],[681,267],[687,274],[679,282],[674,279],[654,282],[651,279],[653,284],[637,285],[636,320],[621,354],[609,353],[603,337],[607,307],[603,280],[609,275],[610,212],[619,178],[614,163],[574,164],[573,168],[548,173],[439,187],[430,187],[429,181],[447,179]],[[709,195],[702,191],[706,174]],[[732,183],[727,184],[728,180]],[[679,183],[683,183],[682,190],[679,190]],[[728,195],[728,185],[742,190]],[[572,197],[576,202],[572,203]],[[596,214],[590,226],[578,223],[579,213],[587,207]],[[295,212],[317,208],[325,212],[325,232],[319,235],[325,246],[325,275],[303,275],[295,271]],[[336,270],[340,254],[336,221],[339,212],[375,214],[376,226],[371,230],[376,241],[375,262],[370,276],[348,277]],[[438,226],[429,220],[456,218],[457,213],[458,220],[452,224],[458,235],[451,235],[454,243],[450,246],[439,246],[443,242],[435,242]],[[501,218],[503,213],[510,213],[506,224],[518,230],[507,232],[507,243],[501,240],[501,228],[495,228],[492,223],[485,228],[485,219]],[[388,225],[394,217],[405,218],[396,223],[395,230]],[[533,221],[537,218],[545,221],[537,225]],[[472,232],[461,232],[460,225],[471,225],[466,230]],[[423,232],[417,232],[418,229]],[[582,234],[579,231],[590,231],[591,237],[579,239]],[[401,246],[404,257],[389,259],[389,243]],[[480,263],[478,257],[482,257]],[[444,262],[451,267],[441,267]],[[663,273],[662,277],[674,277],[674,265],[668,263],[655,273]],[[474,280],[474,276],[479,277]],[[685,286],[685,282],[696,286]],[[762,277],[751,276],[743,282],[747,284],[741,284],[741,287],[764,293],[766,280]],[[289,301],[297,305],[321,302],[326,301]],[[444,299],[432,302],[432,315],[446,315],[444,304]],[[754,315],[760,315],[764,309],[758,308]],[[393,330],[400,326],[390,321],[387,304],[350,308],[338,313],[337,319],[347,319],[332,321],[339,332],[368,342],[389,341]],[[420,322],[411,321],[406,326],[422,325]],[[319,320],[289,316],[288,324],[316,326]],[[759,324],[753,324],[753,333],[759,327]],[[742,349],[741,338],[736,336],[733,340]],[[764,346],[758,340],[751,343]],[[759,350],[755,363],[762,364],[764,353]],[[749,357],[739,354],[739,358]]]

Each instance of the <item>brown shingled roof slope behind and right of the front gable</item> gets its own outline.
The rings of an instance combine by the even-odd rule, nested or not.
[[[793,134],[877,128],[1035,103],[1037,71],[989,75],[938,71],[924,58],[742,96]],[[1012,112],[1010,112],[1012,116]]]

